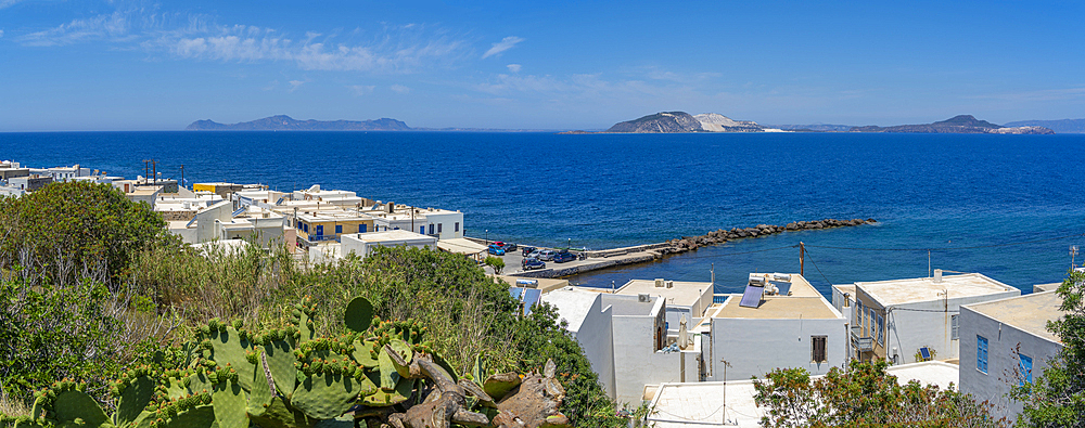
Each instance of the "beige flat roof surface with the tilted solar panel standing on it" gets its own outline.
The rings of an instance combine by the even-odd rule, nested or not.
[[[715,319],[833,320],[842,315],[820,296],[764,296],[757,308],[739,306],[742,295],[733,294],[712,314]],[[711,312],[712,310],[710,310]]]

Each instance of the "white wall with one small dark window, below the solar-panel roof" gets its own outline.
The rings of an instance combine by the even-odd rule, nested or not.
[[[826,336],[826,362],[813,363],[812,336]],[[843,320],[713,319],[712,359],[709,380],[764,378],[774,368],[801,367],[822,375],[846,361],[846,325]]]

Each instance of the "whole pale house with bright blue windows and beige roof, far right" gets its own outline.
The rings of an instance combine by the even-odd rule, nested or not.
[[[1055,291],[960,307],[960,390],[994,404],[995,417],[1014,420],[1020,402],[1010,389],[1034,381],[1059,353],[1047,322],[1062,316]]]

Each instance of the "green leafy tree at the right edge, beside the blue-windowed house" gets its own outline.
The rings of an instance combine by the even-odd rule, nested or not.
[[[1048,362],[1034,384],[1016,387],[1024,427],[1085,427],[1085,273],[1071,271],[1056,291],[1064,315],[1049,321],[1047,329],[1062,341],[1062,350]]]

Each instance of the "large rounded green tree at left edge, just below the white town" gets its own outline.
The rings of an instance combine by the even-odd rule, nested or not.
[[[169,239],[151,207],[108,184],[52,183],[0,199],[0,268],[21,265],[36,285],[90,277],[115,285],[133,256]]]

